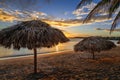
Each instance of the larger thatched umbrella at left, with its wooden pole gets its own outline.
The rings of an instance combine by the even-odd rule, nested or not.
[[[0,45],[5,48],[34,50],[34,72],[37,73],[37,48],[69,41],[62,31],[40,20],[24,21],[0,31]]]

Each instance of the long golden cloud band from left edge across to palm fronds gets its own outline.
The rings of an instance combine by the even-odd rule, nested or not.
[[[66,13],[67,14],[67,13]],[[42,19],[48,24],[55,27],[72,27],[72,26],[80,26],[83,24],[83,19],[81,16],[78,16],[78,19],[61,19],[53,16],[49,16],[44,12],[38,11],[20,11],[20,10],[4,10],[0,9],[0,21],[26,21],[33,19]],[[93,22],[104,22],[107,21],[107,16],[94,17],[85,25],[91,24]]]

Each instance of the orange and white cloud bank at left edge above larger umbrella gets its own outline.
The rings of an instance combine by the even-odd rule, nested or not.
[[[38,11],[20,11],[0,8],[0,21],[24,21],[35,18],[49,18],[46,13]]]

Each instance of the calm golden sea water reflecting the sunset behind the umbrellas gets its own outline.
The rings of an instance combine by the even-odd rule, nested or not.
[[[52,53],[52,52],[59,52],[59,51],[65,51],[65,50],[73,50],[73,46],[81,41],[82,39],[70,39],[69,42],[59,44],[53,48],[38,48],[37,51],[39,54],[42,53]],[[112,40],[115,44],[117,41]],[[120,46],[120,45],[118,45]],[[13,56],[23,56],[23,55],[31,55],[33,54],[33,50],[28,50],[25,48],[21,48],[19,51],[14,49],[7,49],[4,47],[0,47],[0,58],[3,57],[13,57]]]

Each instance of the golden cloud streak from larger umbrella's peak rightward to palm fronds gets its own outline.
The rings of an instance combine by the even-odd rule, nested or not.
[[[73,27],[73,26],[81,26],[92,24],[93,22],[104,22],[107,21],[108,18],[106,16],[102,17],[94,17],[88,23],[83,24],[83,19],[70,19],[70,20],[51,20],[51,19],[43,19],[43,21],[48,24],[56,27]]]

